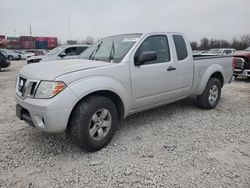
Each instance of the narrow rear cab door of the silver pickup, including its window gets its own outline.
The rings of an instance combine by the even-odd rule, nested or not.
[[[187,40],[182,35],[173,35],[175,45],[176,95],[186,97],[193,85],[194,65],[191,48],[187,48]],[[190,54],[190,55],[189,55]]]

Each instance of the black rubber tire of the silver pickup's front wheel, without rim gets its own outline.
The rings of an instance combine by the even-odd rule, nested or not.
[[[90,127],[94,115],[98,113],[98,110],[102,109],[108,110],[111,117],[111,126],[104,138],[95,140],[95,137],[90,135]],[[118,113],[114,102],[107,97],[94,95],[76,105],[70,117],[67,133],[80,148],[87,151],[97,151],[104,148],[111,141],[117,127]],[[99,136],[98,131],[95,134]]]

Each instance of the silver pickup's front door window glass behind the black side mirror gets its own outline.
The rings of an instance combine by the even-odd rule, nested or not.
[[[170,61],[169,45],[165,35],[150,36],[145,39],[141,46],[137,49],[134,60],[138,61],[142,53],[150,51],[156,52],[157,59],[155,61],[146,62],[145,64],[164,63]]]

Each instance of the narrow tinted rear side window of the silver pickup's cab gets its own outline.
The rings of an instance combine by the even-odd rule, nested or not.
[[[187,46],[185,43],[184,38],[181,35],[173,35],[174,39],[174,45],[177,53],[177,59],[179,61],[187,58],[188,52],[187,52]]]

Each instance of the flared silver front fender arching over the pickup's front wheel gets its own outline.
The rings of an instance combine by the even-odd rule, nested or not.
[[[68,87],[76,94],[79,100],[93,92],[111,91],[121,98],[124,105],[124,115],[128,114],[131,104],[131,94],[128,92],[130,89],[113,78],[104,76],[87,77],[71,83]]]

